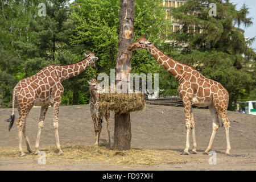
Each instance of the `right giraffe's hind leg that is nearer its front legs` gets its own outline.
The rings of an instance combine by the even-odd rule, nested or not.
[[[220,127],[220,122],[218,121],[218,113],[216,108],[213,105],[210,105],[209,110],[210,115],[212,117],[212,136],[210,137],[209,146],[207,147],[207,150],[204,151],[204,154],[208,154],[209,151],[212,149],[214,137],[217,133],[218,127]]]

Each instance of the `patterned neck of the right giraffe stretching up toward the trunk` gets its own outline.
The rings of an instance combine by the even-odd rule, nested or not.
[[[147,49],[148,52],[151,53],[151,55],[155,58],[155,60],[162,65],[164,69],[166,69],[169,73],[171,73],[172,76],[176,78],[178,82],[183,81],[183,72],[184,67],[182,63],[179,63],[178,61],[175,61],[171,57],[168,57],[165,55],[162,51],[160,51],[159,48],[157,48],[155,45],[150,46]]]

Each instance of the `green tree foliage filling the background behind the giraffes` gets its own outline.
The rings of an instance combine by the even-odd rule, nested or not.
[[[208,15],[211,2],[217,5],[216,17]],[[45,17],[38,15],[39,3],[46,4]],[[72,5],[68,0],[1,0],[0,9],[0,107],[11,105],[12,89],[20,79],[48,64],[75,63],[94,50],[96,69],[89,67],[63,82],[63,104],[87,104],[87,81],[102,72],[110,75],[115,67],[119,0],[76,0]],[[229,109],[238,100],[255,100],[256,55],[249,47],[254,39],[245,39],[238,28],[251,25],[249,9],[244,5],[236,10],[229,1],[195,0],[171,10],[183,23],[178,32],[165,19],[162,0],[136,0],[134,39],[147,34],[167,55],[221,82],[230,94]],[[159,73],[162,96],[177,95],[175,78],[146,50],[133,51],[132,73]]]

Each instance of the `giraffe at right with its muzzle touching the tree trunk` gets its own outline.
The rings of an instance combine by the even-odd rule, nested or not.
[[[185,113],[185,127],[187,129],[186,147],[181,155],[188,155],[189,149],[189,133],[192,129],[193,148],[192,154],[196,152],[196,134],[195,134],[195,121],[193,117],[191,105],[198,107],[209,106],[210,114],[212,117],[212,136],[207,150],[204,154],[212,149],[213,139],[220,127],[218,121],[218,115],[222,119],[222,126],[226,131],[226,154],[230,154],[230,141],[229,141],[229,119],[226,117],[226,110],[228,108],[229,94],[228,91],[217,81],[204,77],[197,72],[190,65],[179,63],[165,55],[159,48],[157,48],[152,42],[146,39],[146,35],[139,38],[135,43],[131,44],[128,51],[146,49],[155,60],[162,65],[172,76],[176,78],[180,86],[177,89],[181,100],[183,100],[184,113]]]

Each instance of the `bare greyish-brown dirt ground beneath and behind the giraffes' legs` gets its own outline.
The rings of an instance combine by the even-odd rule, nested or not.
[[[55,144],[55,134],[52,124],[52,107],[46,114],[44,128],[40,137],[40,146]],[[76,164],[46,164],[39,165],[37,160],[5,160],[0,156],[0,170],[256,170],[256,116],[228,111],[230,120],[231,155],[225,155],[225,129],[220,127],[213,143],[213,151],[217,153],[217,164],[210,165],[209,155],[204,155],[210,135],[212,134],[212,119],[207,109],[193,109],[196,122],[196,139],[198,154],[182,156],[184,159],[203,159],[203,162],[185,164],[161,163],[156,166],[116,165],[108,162],[86,161]],[[9,118],[11,109],[0,109],[0,147],[16,147],[18,152],[18,131],[14,125],[10,133]],[[27,134],[31,146],[35,150],[35,140],[39,122],[40,108],[33,108],[27,118]],[[15,117],[18,111],[15,109]],[[15,119],[16,121],[16,119]],[[236,122],[234,122],[236,121]],[[113,142],[114,113],[111,113],[110,125]],[[101,143],[107,142],[105,119],[102,123]],[[131,146],[141,149],[156,149],[165,151],[183,151],[185,148],[186,130],[183,107],[147,105],[146,110],[131,113]],[[90,117],[89,105],[61,106],[59,114],[60,144],[79,143],[89,145],[94,143],[93,122]],[[26,143],[23,139],[23,146]],[[192,137],[191,137],[192,146]],[[18,153],[17,153],[18,155]],[[64,154],[65,155],[65,154]]]

